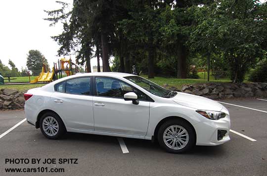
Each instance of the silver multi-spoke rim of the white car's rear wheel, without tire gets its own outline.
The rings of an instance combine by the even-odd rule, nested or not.
[[[42,125],[43,125],[43,130],[45,134],[49,136],[56,135],[59,130],[58,122],[52,116],[45,117]]]

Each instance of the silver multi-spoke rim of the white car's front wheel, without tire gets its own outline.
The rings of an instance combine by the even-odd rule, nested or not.
[[[187,145],[189,134],[183,127],[172,125],[164,131],[163,141],[169,148],[180,150]]]

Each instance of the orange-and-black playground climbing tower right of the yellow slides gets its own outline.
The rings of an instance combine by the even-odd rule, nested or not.
[[[79,72],[78,66],[71,61],[71,59],[58,59],[58,62],[54,62],[54,78],[53,80],[57,80],[63,78],[62,72],[65,72],[67,76],[74,75]]]

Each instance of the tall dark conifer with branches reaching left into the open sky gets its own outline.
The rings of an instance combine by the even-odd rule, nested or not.
[[[67,4],[58,10],[46,11],[51,25],[63,21],[63,32],[52,37],[61,45],[58,54],[67,54],[71,50],[78,52],[81,63],[93,55],[93,48],[102,51],[103,71],[110,71],[109,56],[112,55],[111,39],[114,38],[117,12],[120,12],[124,0],[74,0],[73,9],[65,11]],[[100,49],[101,47],[101,49]],[[98,56],[99,52],[96,53]],[[99,59],[98,59],[99,60]],[[99,67],[100,68],[100,67]]]

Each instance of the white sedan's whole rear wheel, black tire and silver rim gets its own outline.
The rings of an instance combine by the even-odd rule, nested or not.
[[[66,132],[62,120],[53,112],[47,112],[41,117],[40,129],[49,139],[58,139]]]

